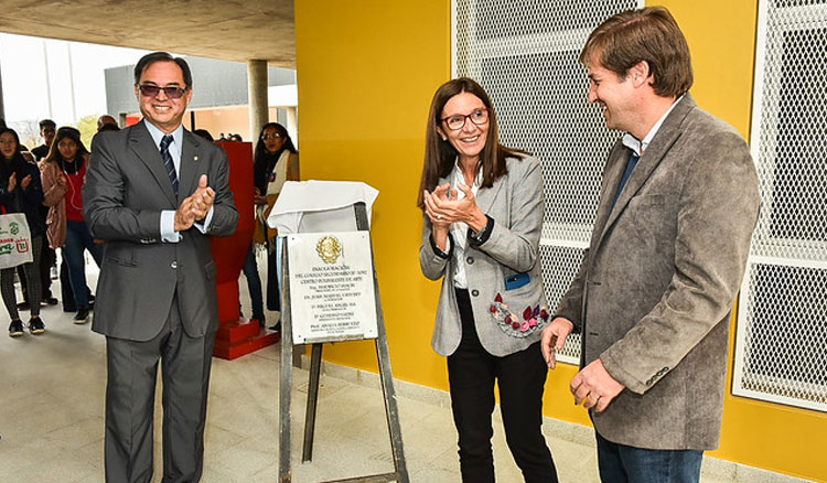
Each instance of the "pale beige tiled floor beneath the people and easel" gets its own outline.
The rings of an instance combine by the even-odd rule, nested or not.
[[[93,273],[90,283],[94,281]],[[0,483],[103,482],[104,337],[90,332],[88,325],[74,325],[73,314],[63,313],[60,305],[45,308],[42,315],[47,324],[45,334],[0,339]],[[314,458],[302,464],[308,373],[296,369],[293,377],[294,482],[393,471],[378,382],[341,367],[329,367],[322,376]],[[460,481],[455,433],[444,395],[405,384],[397,385],[397,391],[410,481]],[[214,361],[203,482],[277,481],[278,393],[277,346],[233,362]],[[157,416],[160,399],[159,390]],[[498,415],[495,418],[497,481],[520,482]],[[162,463],[160,427],[157,418],[157,482]],[[588,431],[554,420],[547,420],[544,429],[561,482],[598,481]],[[705,462],[702,481],[796,480],[713,460]]]

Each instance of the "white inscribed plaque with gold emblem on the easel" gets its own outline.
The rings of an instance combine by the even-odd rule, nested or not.
[[[287,236],[293,343],[376,339],[367,232]]]

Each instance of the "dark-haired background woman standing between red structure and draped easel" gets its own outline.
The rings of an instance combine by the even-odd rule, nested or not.
[[[281,193],[281,186],[284,181],[299,181],[299,151],[293,146],[293,140],[283,126],[278,122],[268,122],[261,128],[256,142],[253,165],[253,182],[255,187],[256,204],[256,232],[254,242],[264,244],[267,247],[267,310],[280,311],[281,300],[279,299],[278,273],[276,271],[276,230],[267,226],[267,216],[272,210],[272,205]],[[244,273],[253,273],[256,258],[250,247],[250,254],[245,261]],[[256,275],[258,270],[256,269]],[[249,282],[250,277],[247,277]],[[250,297],[254,288],[250,288]],[[259,291],[260,293],[260,291]],[[256,300],[253,302],[254,315],[256,319]],[[260,314],[264,316],[264,311]],[[264,319],[261,319],[264,320]],[[270,329],[279,330],[279,321]]]

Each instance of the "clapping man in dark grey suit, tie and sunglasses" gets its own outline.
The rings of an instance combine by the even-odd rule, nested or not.
[[[210,235],[236,229],[224,151],[181,126],[192,98],[183,58],[135,67],[143,120],[99,139],[84,216],[106,240],[93,330],[106,335],[106,480],[152,480],[158,362],[163,380],[163,482],[197,482],[218,328]]]

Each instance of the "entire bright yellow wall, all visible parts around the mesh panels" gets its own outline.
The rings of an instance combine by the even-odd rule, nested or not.
[[[755,1],[659,4],[689,41],[698,104],[748,136]],[[394,376],[438,389],[448,388],[444,358],[430,348],[439,285],[419,271],[415,203],[428,106],[450,78],[450,19],[449,0],[296,1],[302,179],[359,180],[380,191],[373,243]],[[326,345],[325,358],[376,371],[370,342]],[[549,374],[545,411],[588,425],[568,391],[574,374],[565,364]],[[825,448],[825,415],[728,396],[721,447],[711,454],[827,481]]]

